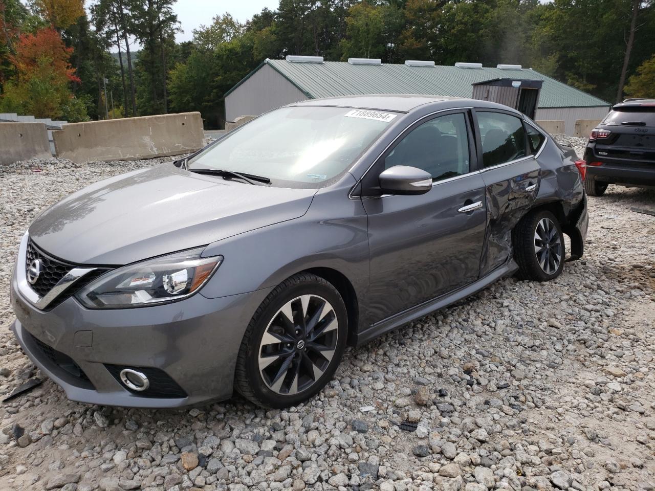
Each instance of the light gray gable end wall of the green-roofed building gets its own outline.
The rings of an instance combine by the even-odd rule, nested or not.
[[[307,96],[290,81],[282,77],[271,65],[262,65],[248,80],[227,94],[225,119],[243,115],[257,115],[276,107],[307,100]]]

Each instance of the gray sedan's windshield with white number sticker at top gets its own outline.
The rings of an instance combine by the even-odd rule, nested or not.
[[[257,175],[280,187],[320,187],[348,170],[397,115],[348,107],[283,107],[234,130],[189,170]]]

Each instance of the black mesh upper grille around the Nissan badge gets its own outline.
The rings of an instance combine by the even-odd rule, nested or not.
[[[53,257],[47,255],[47,253],[41,251],[41,249],[39,249],[39,247],[37,247],[37,245],[34,244],[31,239],[28,240],[28,248],[26,250],[25,257],[26,274],[28,273],[30,264],[35,259],[39,259],[39,261],[41,261],[41,274],[39,274],[37,281],[33,285],[29,286],[39,295],[39,297],[42,298],[45,297],[45,295],[47,295],[48,292],[52,290],[52,288],[54,288],[54,286],[59,283],[60,280],[62,280],[62,278],[64,278],[64,276],[66,276],[70,270],[80,267],[76,264],[64,263],[63,261],[54,259]],[[81,267],[88,268],[89,266]],[[77,280],[77,282],[73,283],[62,293],[60,293],[56,299],[52,300],[52,302],[48,304],[47,310],[55,308],[60,303],[64,302],[64,300],[69,299],[75,295],[75,293],[83,289],[83,287],[88,285],[88,283],[102,276],[102,274],[105,274],[105,272],[109,271],[109,269],[110,268],[96,268],[95,270],[86,273],[82,278]]]

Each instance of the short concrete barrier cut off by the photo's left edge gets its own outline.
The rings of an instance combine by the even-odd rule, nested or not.
[[[48,132],[43,123],[0,123],[0,149],[0,164],[52,157]]]

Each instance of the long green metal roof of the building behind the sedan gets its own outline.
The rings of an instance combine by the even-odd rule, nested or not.
[[[346,62],[301,63],[286,60],[265,60],[264,63],[271,65],[311,99],[355,94],[430,94],[470,98],[473,92],[471,84],[475,82],[516,78],[544,81],[539,99],[540,108],[610,106],[606,101],[532,69],[351,65]]]

